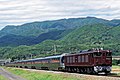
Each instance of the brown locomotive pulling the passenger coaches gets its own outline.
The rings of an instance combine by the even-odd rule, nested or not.
[[[64,56],[66,71],[83,73],[110,73],[112,66],[111,51],[93,49]]]

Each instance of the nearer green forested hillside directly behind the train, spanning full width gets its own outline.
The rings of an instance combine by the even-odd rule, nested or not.
[[[28,59],[78,52],[90,48],[110,49],[113,55],[120,55],[120,26],[110,27],[104,24],[86,25],[71,30],[58,40],[46,40],[32,46],[4,47],[0,49],[1,57],[12,59]]]

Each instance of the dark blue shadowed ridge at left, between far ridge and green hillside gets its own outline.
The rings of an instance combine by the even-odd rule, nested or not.
[[[30,46],[30,45],[41,43],[42,41],[45,41],[45,40],[58,40],[64,37],[70,31],[71,29],[49,31],[49,32],[40,34],[37,37],[9,34],[0,38],[0,47],[5,47],[5,46],[16,47],[19,45]]]

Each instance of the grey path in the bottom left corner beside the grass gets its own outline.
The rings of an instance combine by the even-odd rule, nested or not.
[[[3,75],[8,80],[25,80],[19,76],[16,76],[16,75],[6,71],[5,69],[3,69],[1,67],[0,67],[0,75]]]

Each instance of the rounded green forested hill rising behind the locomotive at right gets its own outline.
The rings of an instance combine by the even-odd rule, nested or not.
[[[86,25],[72,31],[61,41],[74,45],[77,48],[79,47],[79,49],[103,47],[112,50],[113,55],[120,55],[119,31],[120,26],[109,27],[103,24]]]

